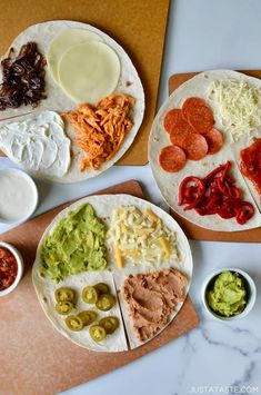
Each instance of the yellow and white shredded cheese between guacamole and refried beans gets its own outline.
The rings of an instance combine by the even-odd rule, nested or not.
[[[159,265],[165,259],[179,258],[175,233],[150,209],[142,214],[134,206],[119,207],[112,214],[108,237],[119,267],[124,266],[124,260]]]

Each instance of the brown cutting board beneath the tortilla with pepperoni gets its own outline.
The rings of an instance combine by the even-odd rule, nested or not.
[[[261,70],[244,70],[241,71],[248,76],[261,78]],[[169,92],[170,95],[179,88],[179,86],[190,78],[194,77],[199,72],[187,72],[173,75],[169,79]],[[212,241],[239,241],[239,243],[260,243],[261,241],[261,228],[243,230],[243,231],[214,231],[201,228],[187,219],[179,216],[173,210],[171,211],[172,216],[180,224],[185,235],[190,239],[194,240],[212,240]]]

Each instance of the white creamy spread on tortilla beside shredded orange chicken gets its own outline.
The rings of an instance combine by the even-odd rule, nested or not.
[[[0,148],[29,172],[62,177],[70,166],[70,139],[53,111],[20,117],[0,127]]]

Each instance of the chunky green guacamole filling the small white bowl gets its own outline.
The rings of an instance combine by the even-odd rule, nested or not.
[[[207,290],[210,308],[225,317],[243,312],[247,305],[247,290],[242,276],[238,273],[223,271]]]

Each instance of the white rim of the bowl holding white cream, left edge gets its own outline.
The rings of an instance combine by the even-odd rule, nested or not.
[[[0,176],[1,176],[1,174],[7,174],[7,172],[20,174],[32,188],[34,203],[33,203],[33,206],[32,206],[31,210],[29,211],[29,214],[27,214],[26,216],[23,216],[23,217],[21,217],[19,219],[16,219],[16,220],[8,220],[8,219],[4,219],[4,218],[2,218],[0,216],[0,224],[3,224],[3,225],[18,225],[18,224],[24,223],[36,211],[36,209],[38,207],[38,204],[39,204],[39,192],[38,192],[38,188],[37,188],[37,185],[34,182],[34,180],[24,170],[18,169],[16,167],[6,167],[3,169],[0,169]]]

